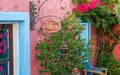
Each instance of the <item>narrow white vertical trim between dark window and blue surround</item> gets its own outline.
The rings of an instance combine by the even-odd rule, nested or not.
[[[13,65],[14,75],[19,75],[19,38],[18,23],[13,23]]]

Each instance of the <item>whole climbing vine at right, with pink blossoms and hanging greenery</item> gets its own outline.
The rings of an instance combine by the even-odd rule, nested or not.
[[[112,54],[114,47],[120,44],[118,42],[120,30],[114,32],[113,29],[116,25],[120,26],[119,0],[72,0],[72,2],[76,6],[73,8],[73,13],[81,17],[83,22],[90,20],[92,26],[96,28],[100,40],[97,66],[108,68],[109,75],[119,75],[120,63]],[[112,65],[112,63],[115,64]],[[111,67],[116,69],[113,70]]]

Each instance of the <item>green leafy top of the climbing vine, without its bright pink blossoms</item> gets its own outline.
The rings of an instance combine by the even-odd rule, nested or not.
[[[83,3],[78,2],[79,0],[73,0],[74,4]],[[120,22],[120,2],[118,0],[101,0],[104,2],[104,6],[97,5],[94,10],[89,10],[88,12],[81,13],[78,9],[74,12],[76,16],[81,17],[83,22],[90,20],[92,25],[96,27],[98,34],[111,35],[111,28],[113,25]],[[110,7],[113,8],[110,8]],[[115,6],[115,8],[114,8]],[[114,13],[115,12],[115,13]]]

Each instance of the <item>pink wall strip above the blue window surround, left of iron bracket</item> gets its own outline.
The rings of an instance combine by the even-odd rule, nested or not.
[[[29,0],[0,0],[0,11],[28,12]]]

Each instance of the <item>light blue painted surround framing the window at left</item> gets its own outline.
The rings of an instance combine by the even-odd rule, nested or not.
[[[28,12],[0,12],[0,22],[18,22],[19,75],[30,75],[30,32]]]

